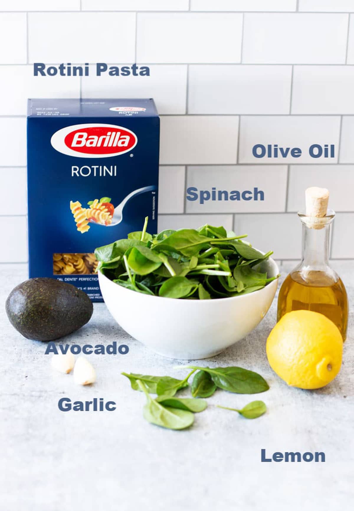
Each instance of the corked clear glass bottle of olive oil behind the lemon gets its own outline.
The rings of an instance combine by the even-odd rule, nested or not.
[[[302,222],[302,259],[280,288],[277,320],[299,309],[319,312],[336,324],[345,340],[347,293],[328,263],[329,228],[336,215],[327,210],[328,195],[326,189],[306,190],[306,214],[298,214]]]

